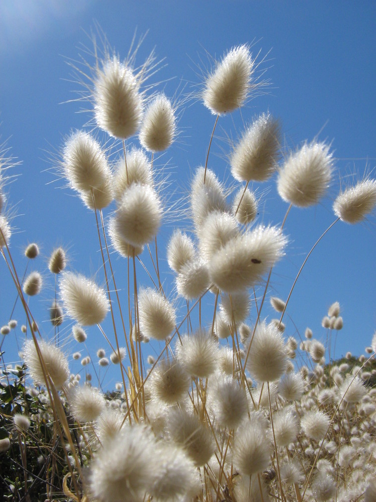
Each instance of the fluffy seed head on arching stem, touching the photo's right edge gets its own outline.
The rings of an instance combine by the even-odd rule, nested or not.
[[[358,223],[376,205],[376,180],[364,179],[341,192],[333,204],[334,213],[346,223]]]

